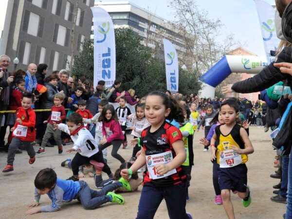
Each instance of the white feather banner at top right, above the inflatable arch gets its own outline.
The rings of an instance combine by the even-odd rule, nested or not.
[[[255,0],[256,9],[260,24],[260,29],[262,32],[264,46],[267,56],[268,64],[274,61],[274,56],[271,56],[270,51],[275,51],[280,43],[276,35],[276,25],[275,25],[275,9],[264,0]]]

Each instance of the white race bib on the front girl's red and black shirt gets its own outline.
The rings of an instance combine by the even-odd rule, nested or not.
[[[177,172],[176,169],[173,169],[165,174],[158,175],[155,169],[156,164],[168,164],[172,160],[173,160],[173,157],[172,157],[171,151],[166,151],[164,153],[159,153],[159,154],[147,155],[146,163],[147,163],[149,178],[156,180],[156,179],[161,179],[161,178],[164,178],[176,173]]]

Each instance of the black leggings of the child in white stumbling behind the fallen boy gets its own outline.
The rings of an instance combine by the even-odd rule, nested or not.
[[[90,160],[94,160],[94,161],[103,163],[104,167],[103,167],[102,171],[104,171],[108,175],[111,174],[110,167],[108,166],[107,163],[105,163],[101,151],[98,151],[96,154],[92,155],[91,157],[85,157],[79,153],[76,153],[72,162],[71,162],[73,175],[78,176],[79,166],[81,166],[83,164],[89,164]]]

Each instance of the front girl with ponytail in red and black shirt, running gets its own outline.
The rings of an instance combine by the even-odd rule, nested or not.
[[[183,122],[183,110],[164,92],[153,91],[146,98],[145,115],[151,126],[142,131],[141,155],[129,169],[121,172],[122,177],[128,179],[147,164],[137,219],[153,219],[163,199],[169,218],[192,218],[185,212],[186,175],[181,167],[186,158],[183,136],[178,128],[165,121]]]

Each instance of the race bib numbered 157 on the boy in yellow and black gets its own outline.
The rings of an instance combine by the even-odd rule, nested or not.
[[[220,154],[220,168],[229,168],[242,164],[240,154],[234,150],[223,150],[218,152]]]

